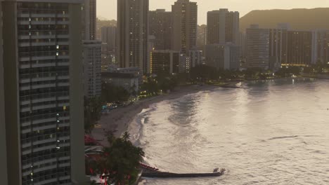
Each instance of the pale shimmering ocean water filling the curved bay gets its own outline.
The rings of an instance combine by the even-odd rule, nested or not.
[[[145,179],[146,185],[329,184],[329,81],[240,83],[153,104],[131,125],[146,163],[222,177]]]

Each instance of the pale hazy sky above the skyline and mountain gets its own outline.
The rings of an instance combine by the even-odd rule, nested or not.
[[[150,10],[165,8],[172,10],[176,0],[150,0]],[[240,16],[252,10],[291,9],[291,8],[324,8],[329,7],[329,0],[191,0],[198,2],[198,24],[205,24],[207,11],[228,8],[239,11]],[[107,19],[117,19],[117,0],[97,0],[97,15]]]

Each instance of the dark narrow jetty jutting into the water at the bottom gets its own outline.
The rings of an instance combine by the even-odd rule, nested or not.
[[[218,168],[214,169],[212,173],[186,173],[186,174],[178,174],[171,172],[142,172],[142,177],[150,177],[150,178],[191,178],[191,177],[220,177],[224,174],[226,170]]]

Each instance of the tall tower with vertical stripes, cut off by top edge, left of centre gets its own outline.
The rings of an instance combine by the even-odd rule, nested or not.
[[[148,71],[148,0],[117,0],[117,59]]]

